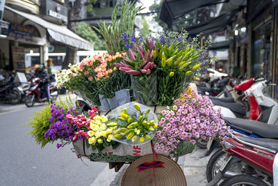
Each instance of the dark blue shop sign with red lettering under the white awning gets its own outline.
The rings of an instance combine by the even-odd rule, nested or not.
[[[33,38],[34,29],[28,26],[10,23],[8,29],[3,29],[1,34],[12,36],[14,38],[31,39]]]

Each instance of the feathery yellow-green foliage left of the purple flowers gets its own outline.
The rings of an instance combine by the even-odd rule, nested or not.
[[[49,117],[51,117],[50,112],[50,103],[47,103],[47,106],[40,111],[36,111],[33,118],[30,118],[30,121],[26,123],[24,126],[32,127],[31,134],[33,138],[35,138],[35,142],[40,144],[41,148],[43,148],[47,143],[54,142],[53,139],[46,139],[44,137],[45,132],[49,130],[51,123],[49,122]]]

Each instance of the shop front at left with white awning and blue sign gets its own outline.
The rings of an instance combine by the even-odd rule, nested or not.
[[[4,21],[7,26],[1,31],[0,42],[3,45],[0,45],[0,56],[1,68],[8,68],[7,70],[24,71],[29,65],[45,63],[49,58],[49,40],[64,47],[70,45],[79,49],[93,49],[90,42],[77,36],[66,26],[48,22],[38,15],[5,6]],[[26,63],[26,54],[39,55]]]

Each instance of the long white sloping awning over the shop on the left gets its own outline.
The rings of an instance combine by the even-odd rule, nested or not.
[[[35,22],[36,24],[39,24],[40,26],[44,27],[45,29],[47,29],[51,38],[53,38],[58,42],[63,42],[66,45],[70,45],[72,47],[76,47],[79,49],[85,49],[85,50],[94,49],[92,43],[76,35],[76,33],[70,31],[70,29],[67,29],[66,26],[61,26],[58,24],[47,22],[46,20],[43,20],[37,15],[24,13],[22,11],[10,8],[8,6],[5,6],[5,8],[7,10],[12,11],[13,13],[16,13],[17,15],[25,17],[26,19],[31,20],[32,22]]]

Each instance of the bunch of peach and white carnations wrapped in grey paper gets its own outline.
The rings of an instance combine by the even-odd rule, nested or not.
[[[77,91],[85,100],[101,104],[104,110],[130,102],[129,76],[115,66],[115,62],[125,55],[118,52],[115,55],[97,54],[88,56],[81,63],[70,64],[70,69],[62,70],[58,75],[57,86]]]

